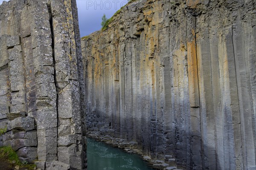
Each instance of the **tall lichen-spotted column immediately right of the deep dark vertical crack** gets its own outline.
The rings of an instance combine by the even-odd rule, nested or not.
[[[74,31],[78,29],[78,25],[74,26],[71,0],[51,1],[49,8],[57,90],[58,161],[70,164],[71,169],[79,169],[81,164],[77,162],[81,162],[82,152],[79,86],[81,76],[78,75],[79,45],[76,46],[77,37]]]

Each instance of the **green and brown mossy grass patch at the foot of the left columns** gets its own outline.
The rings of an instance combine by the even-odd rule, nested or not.
[[[20,162],[17,153],[10,146],[0,147],[0,166],[3,170],[34,170],[35,164],[27,164],[26,161]]]

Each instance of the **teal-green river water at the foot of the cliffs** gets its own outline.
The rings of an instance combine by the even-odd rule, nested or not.
[[[140,156],[87,138],[87,170],[154,170]]]

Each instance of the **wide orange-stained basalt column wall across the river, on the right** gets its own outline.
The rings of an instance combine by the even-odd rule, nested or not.
[[[184,169],[256,168],[256,2],[137,0],[82,40],[87,129]]]

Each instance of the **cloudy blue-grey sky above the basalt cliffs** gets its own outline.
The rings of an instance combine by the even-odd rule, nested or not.
[[[3,1],[0,0],[0,3]],[[128,0],[76,0],[81,37],[101,29],[103,14],[111,18],[127,2]]]

